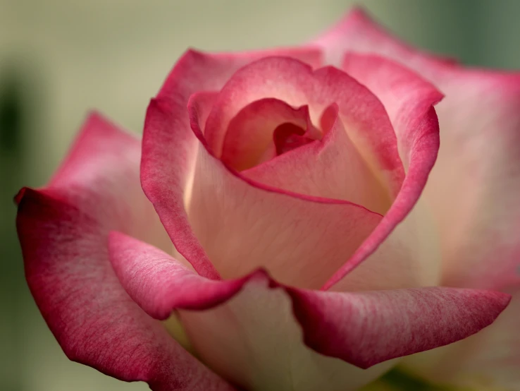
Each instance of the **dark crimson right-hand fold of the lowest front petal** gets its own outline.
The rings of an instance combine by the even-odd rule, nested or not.
[[[511,300],[495,291],[445,287],[292,296],[309,347],[361,368],[473,335]]]

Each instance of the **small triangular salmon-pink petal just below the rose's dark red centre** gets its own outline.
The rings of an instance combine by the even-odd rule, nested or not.
[[[338,117],[337,104],[328,115],[332,125],[323,140],[286,152],[242,175],[295,193],[349,200],[383,214],[390,207],[390,195],[350,140]]]

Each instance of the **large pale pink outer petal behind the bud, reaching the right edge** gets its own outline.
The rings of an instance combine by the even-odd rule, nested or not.
[[[520,229],[520,155],[514,148],[520,143],[520,73],[445,64],[407,47],[359,10],[325,36],[330,50],[391,56],[446,95],[437,109],[442,148],[425,190],[442,234],[445,284],[490,289],[520,284],[520,241],[508,234]],[[346,64],[356,57],[347,56]],[[364,65],[345,70],[373,89],[371,71]],[[383,103],[387,110],[395,106],[390,99]]]

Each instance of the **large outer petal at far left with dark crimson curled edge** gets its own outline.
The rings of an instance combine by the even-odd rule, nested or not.
[[[49,187],[20,192],[18,236],[32,295],[74,361],[152,390],[231,391],[130,299],[109,263],[110,229],[168,247],[140,189],[139,160],[139,141],[94,114]]]

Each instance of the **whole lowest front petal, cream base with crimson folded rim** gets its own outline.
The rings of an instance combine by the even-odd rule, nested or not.
[[[110,248],[130,296],[156,318],[189,310],[181,318],[199,355],[248,390],[355,390],[391,363],[359,371],[333,356],[366,368],[431,349],[480,330],[509,303],[469,289],[308,291],[265,272],[215,282],[128,236],[113,234]],[[328,357],[304,346],[291,310],[305,342]]]

